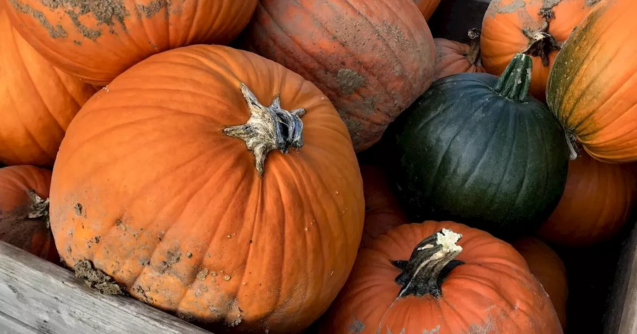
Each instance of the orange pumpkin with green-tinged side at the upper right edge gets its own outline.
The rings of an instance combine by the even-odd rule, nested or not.
[[[599,3],[555,59],[547,103],[573,139],[606,162],[637,161],[637,2]],[[603,41],[603,43],[599,43]]]

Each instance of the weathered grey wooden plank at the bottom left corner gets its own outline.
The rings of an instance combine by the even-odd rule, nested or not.
[[[0,333],[210,334],[124,296],[104,296],[72,272],[0,241]]]

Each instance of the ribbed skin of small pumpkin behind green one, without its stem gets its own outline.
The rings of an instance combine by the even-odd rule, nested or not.
[[[479,61],[468,59],[469,45],[444,38],[434,38],[436,45],[436,69],[434,80],[458,73],[484,73]]]

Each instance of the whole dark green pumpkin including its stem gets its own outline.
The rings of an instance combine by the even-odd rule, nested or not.
[[[413,219],[453,219],[502,238],[537,228],[568,170],[566,137],[528,94],[532,60],[517,54],[500,78],[434,81],[390,130],[390,168]]]

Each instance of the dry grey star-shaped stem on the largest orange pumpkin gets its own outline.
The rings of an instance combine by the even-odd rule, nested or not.
[[[281,100],[276,95],[269,106],[263,106],[244,84],[240,85],[250,118],[248,122],[224,129],[227,136],[243,139],[252,151],[259,177],[263,177],[266,157],[272,150],[288,153],[288,148],[303,147],[303,121],[305,109],[287,111],[281,108]]]

